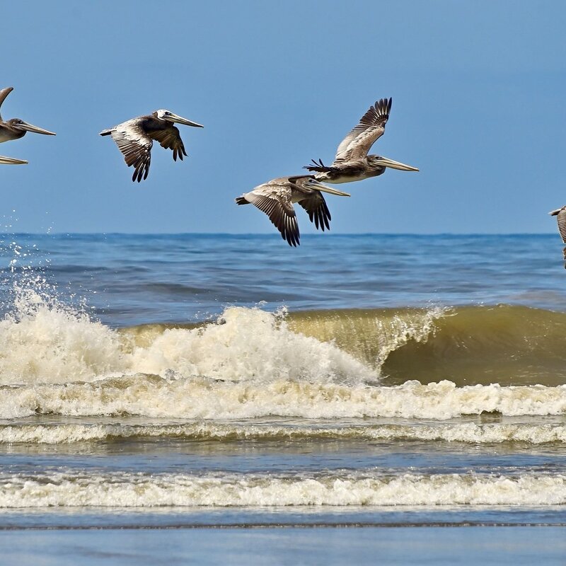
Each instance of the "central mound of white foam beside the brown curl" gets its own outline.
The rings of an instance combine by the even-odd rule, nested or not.
[[[220,324],[195,330],[169,329],[132,352],[132,371],[200,375],[234,381],[261,379],[348,381],[376,373],[335,345],[293,333],[272,313],[227,308]]]

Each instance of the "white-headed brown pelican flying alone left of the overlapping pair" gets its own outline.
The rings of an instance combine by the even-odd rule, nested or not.
[[[177,156],[183,161],[183,155],[187,155],[179,130],[173,126],[175,122],[196,128],[204,127],[169,110],[156,110],[146,116],[132,118],[110,129],[104,129],[100,135],[112,136],[118,149],[122,151],[127,166],[134,166],[132,181],[137,180],[139,183],[142,178],[146,179],[149,173],[154,139],[161,147],[173,150],[173,161],[177,161]]]

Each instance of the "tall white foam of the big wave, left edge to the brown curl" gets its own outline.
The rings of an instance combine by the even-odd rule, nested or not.
[[[33,346],[32,346],[33,345]],[[0,321],[0,383],[96,381],[122,374],[215,379],[362,381],[376,372],[333,344],[293,333],[281,318],[228,308],[221,323],[168,329],[149,345],[130,343],[88,316],[37,303]]]

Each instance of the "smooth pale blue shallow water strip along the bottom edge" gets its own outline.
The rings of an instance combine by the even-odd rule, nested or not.
[[[547,526],[386,529],[175,529],[8,531],[4,558],[38,566],[563,564],[566,529]],[[23,562],[22,562],[23,561]]]

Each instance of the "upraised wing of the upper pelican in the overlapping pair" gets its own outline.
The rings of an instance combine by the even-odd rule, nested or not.
[[[369,107],[369,110],[359,120],[338,146],[334,163],[364,158],[369,148],[385,132],[385,125],[391,112],[391,98],[381,98]]]

